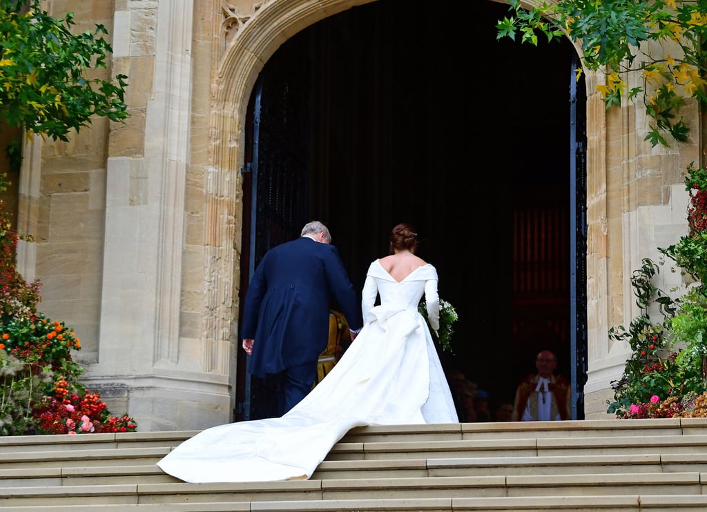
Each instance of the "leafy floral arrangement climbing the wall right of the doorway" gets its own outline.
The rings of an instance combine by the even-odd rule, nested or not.
[[[684,286],[670,292],[653,284],[660,266],[643,258],[631,284],[641,314],[628,328],[609,329],[609,337],[628,343],[624,374],[612,382],[609,414],[617,418],[707,417],[707,168],[690,164],[684,173],[690,194],[689,234],[658,251]],[[662,319],[656,317],[662,315]]]

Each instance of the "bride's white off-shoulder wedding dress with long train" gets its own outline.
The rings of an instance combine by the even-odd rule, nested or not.
[[[363,286],[361,333],[298,405],[279,418],[201,431],[157,465],[185,482],[307,479],[353,427],[458,422],[417,309],[424,293],[428,318],[438,326],[437,280],[429,263],[397,282],[373,261]],[[374,306],[378,294],[381,304]]]

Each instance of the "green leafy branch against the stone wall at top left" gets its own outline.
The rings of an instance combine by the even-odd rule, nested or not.
[[[23,6],[28,5],[25,13]],[[88,78],[112,52],[103,25],[78,34],[74,15],[53,18],[40,0],[0,0],[0,120],[67,141],[93,116],[124,122],[127,76]],[[86,71],[89,71],[87,73]]]

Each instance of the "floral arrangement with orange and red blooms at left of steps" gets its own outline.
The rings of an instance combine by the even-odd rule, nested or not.
[[[73,329],[37,311],[41,285],[16,270],[20,237],[4,208],[0,200],[0,436],[134,431],[134,419],[111,416],[78,380],[83,367],[71,355],[81,340]]]

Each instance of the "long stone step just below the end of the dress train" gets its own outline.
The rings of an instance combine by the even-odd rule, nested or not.
[[[422,500],[529,496],[703,497],[699,472],[371,478],[239,484],[115,484],[0,488],[3,510],[21,506]],[[284,509],[285,510],[285,509]]]

